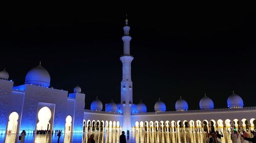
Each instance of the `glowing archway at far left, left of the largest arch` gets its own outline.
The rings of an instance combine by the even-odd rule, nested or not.
[[[12,112],[9,116],[9,122],[7,126],[7,133],[16,133],[18,126],[18,113]]]

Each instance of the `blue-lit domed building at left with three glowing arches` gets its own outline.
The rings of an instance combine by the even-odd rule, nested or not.
[[[41,65],[27,73],[24,85],[14,87],[5,70],[0,78],[0,133],[82,132],[85,95],[80,87],[71,94],[49,88],[50,75]]]

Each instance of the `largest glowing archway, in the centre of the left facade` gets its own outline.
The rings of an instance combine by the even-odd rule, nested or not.
[[[42,107],[38,111],[38,120],[39,122],[36,124],[36,130],[50,130],[50,119],[52,117],[52,112],[48,107]]]

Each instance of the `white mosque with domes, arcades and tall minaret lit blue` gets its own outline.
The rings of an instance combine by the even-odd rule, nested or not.
[[[206,95],[199,102],[200,109],[189,110],[180,97],[175,111],[166,111],[164,101],[155,103],[155,111],[147,112],[143,102],[133,103],[133,82],[127,18],[123,27],[121,100],[103,104],[96,98],[91,109],[84,109],[85,94],[80,87],[73,93],[49,88],[50,74],[39,64],[26,75],[25,84],[13,86],[6,70],[0,72],[0,134],[20,133],[26,130],[61,130],[79,132],[195,132],[254,130],[256,107],[245,107],[242,98],[232,93],[227,108],[215,108]]]

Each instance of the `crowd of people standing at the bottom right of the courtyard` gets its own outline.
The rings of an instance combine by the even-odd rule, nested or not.
[[[245,130],[243,130],[242,133],[240,133],[240,131],[238,132],[237,130],[233,130],[230,134],[230,139],[232,140],[232,143],[249,143],[249,141],[256,143],[256,133],[255,131],[251,131],[251,133],[253,137],[249,138],[249,134]],[[223,137],[222,133],[219,134],[218,131],[211,131],[207,133],[206,142],[221,143],[221,137]]]

